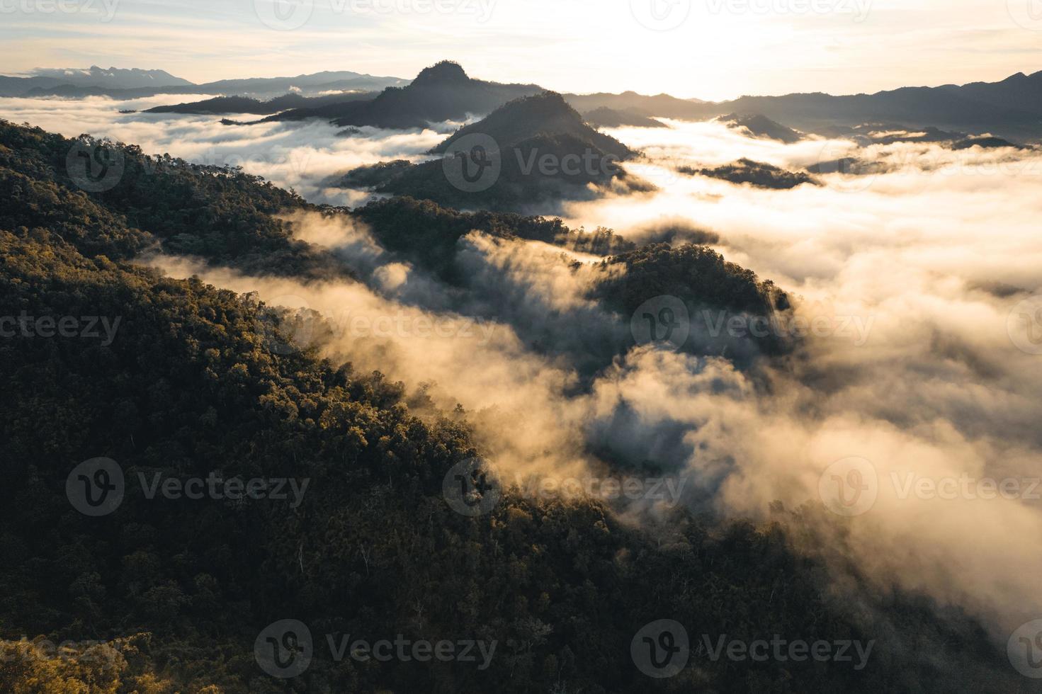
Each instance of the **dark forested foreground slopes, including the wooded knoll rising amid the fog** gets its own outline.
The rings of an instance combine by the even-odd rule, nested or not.
[[[295,241],[275,217],[346,210],[132,147],[110,148],[123,162],[118,184],[84,192],[66,167],[73,146],[0,124],[3,315],[119,320],[108,344],[0,339],[0,690],[1017,691],[996,674],[1003,654],[957,611],[942,619],[923,598],[877,594],[850,567],[836,589],[823,552],[809,550],[809,519],[820,510],[776,509],[775,522],[759,524],[676,510],[635,524],[600,501],[505,486],[489,513],[456,513],[446,475],[487,452],[464,408],[440,412],[420,383],[361,373],[315,349],[275,349],[288,340],[281,315],[256,296],[132,263],[163,248],[255,274],[350,280],[336,254]],[[473,228],[578,243],[560,220],[407,199],[352,218],[403,257],[429,249],[429,267],[457,282],[451,249]],[[736,311],[788,306],[772,284],[704,247],[635,248],[606,230],[584,243],[626,266],[629,284],[602,287],[601,298],[620,306],[636,300],[627,292],[638,280]],[[77,512],[66,489],[70,471],[96,457],[126,476],[122,503],[103,517]],[[307,480],[306,493],[296,504],[149,498],[139,476],[214,470]],[[635,667],[630,641],[667,617],[692,634],[692,658],[654,679]],[[289,679],[254,660],[257,635],[280,619],[315,636],[311,667]],[[698,649],[702,634],[875,646],[862,670],[714,661]],[[325,635],[498,645],[485,669],[336,662]],[[20,642],[40,637],[104,645],[55,654]],[[946,658],[920,658],[927,650]]]

